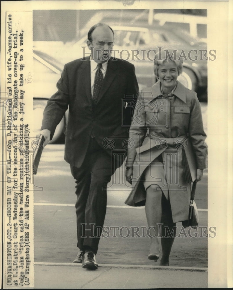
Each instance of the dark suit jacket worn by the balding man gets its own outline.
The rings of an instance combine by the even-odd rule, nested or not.
[[[68,163],[81,166],[92,132],[109,154],[112,150],[125,151],[123,141],[128,138],[133,103],[138,93],[132,64],[110,58],[95,107],[91,99],[90,58],[65,64],[57,88],[57,93],[45,107],[41,129],[49,129],[52,139],[56,126],[69,107],[65,133],[65,160]]]

